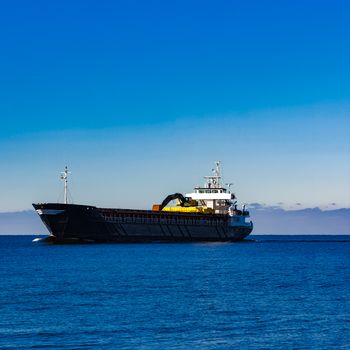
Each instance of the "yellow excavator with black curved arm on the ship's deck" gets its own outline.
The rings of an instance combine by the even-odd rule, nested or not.
[[[167,207],[167,204],[172,200],[177,199],[176,207]],[[213,214],[214,210],[206,206],[199,206],[198,202],[189,197],[184,197],[181,193],[169,194],[162,204],[154,204],[152,211],[166,211],[173,213],[200,213]]]

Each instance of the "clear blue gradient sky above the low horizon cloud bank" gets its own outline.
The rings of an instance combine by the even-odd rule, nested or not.
[[[241,202],[350,207],[347,1],[11,1],[0,211],[150,208],[216,160]]]

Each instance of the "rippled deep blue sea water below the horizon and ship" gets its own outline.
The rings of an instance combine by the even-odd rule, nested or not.
[[[350,236],[0,236],[1,349],[350,349]]]

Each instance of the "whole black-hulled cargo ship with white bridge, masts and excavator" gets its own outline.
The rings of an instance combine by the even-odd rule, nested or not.
[[[237,208],[232,184],[222,184],[220,162],[205,176],[204,186],[170,194],[151,210],[71,204],[69,174],[66,167],[61,175],[64,203],[33,204],[50,233],[48,242],[227,242],[243,240],[253,230],[245,205]]]

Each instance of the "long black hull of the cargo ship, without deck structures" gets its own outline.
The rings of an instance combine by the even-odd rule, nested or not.
[[[33,204],[54,243],[239,241],[252,225],[231,226],[217,214],[102,209],[74,204]]]

